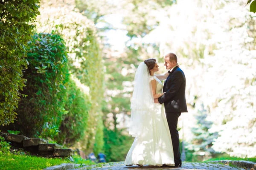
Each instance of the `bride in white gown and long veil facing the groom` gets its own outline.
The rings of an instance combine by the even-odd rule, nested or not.
[[[175,166],[164,105],[154,104],[154,99],[164,94],[160,80],[169,75],[168,72],[154,75],[158,67],[156,59],[146,59],[140,63],[135,74],[129,127],[129,134],[135,139],[125,159],[127,166]]]

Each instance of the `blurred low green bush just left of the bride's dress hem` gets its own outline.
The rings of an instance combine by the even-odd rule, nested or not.
[[[124,161],[134,138],[123,135],[122,130],[104,129],[104,153],[106,161]]]

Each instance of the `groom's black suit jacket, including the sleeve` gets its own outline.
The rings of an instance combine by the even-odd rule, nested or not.
[[[188,112],[185,97],[186,78],[183,71],[175,66],[163,85],[163,96],[158,98],[160,104],[164,103],[166,113]]]

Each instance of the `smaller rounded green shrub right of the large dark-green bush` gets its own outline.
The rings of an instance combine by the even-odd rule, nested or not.
[[[91,103],[88,94],[82,90],[83,88],[81,83],[79,84],[78,79],[70,77],[70,81],[66,86],[67,99],[65,101],[65,110],[67,113],[63,115],[63,121],[59,128],[60,133],[58,136],[55,136],[55,139],[58,143],[73,145],[84,138]]]

